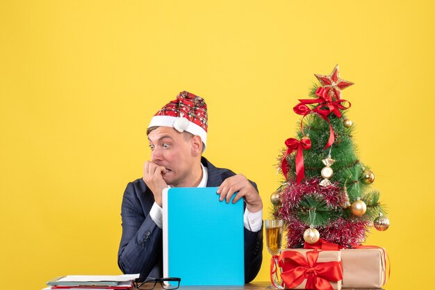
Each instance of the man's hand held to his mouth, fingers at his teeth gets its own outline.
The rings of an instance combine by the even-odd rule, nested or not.
[[[162,191],[167,187],[162,174],[166,174],[166,169],[163,166],[158,166],[156,163],[146,161],[143,167],[143,181],[154,194],[154,200],[162,207]]]

